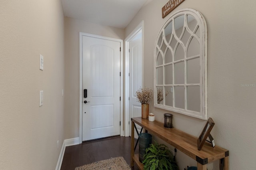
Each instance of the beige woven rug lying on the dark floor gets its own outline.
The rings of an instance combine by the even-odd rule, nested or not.
[[[122,156],[76,167],[75,170],[131,170]]]

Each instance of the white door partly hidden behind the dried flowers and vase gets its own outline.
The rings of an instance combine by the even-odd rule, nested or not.
[[[129,121],[131,117],[141,117],[141,103],[137,102],[136,91],[142,87],[142,33],[139,32],[129,42]],[[138,130],[141,127],[137,125]],[[129,124],[131,129],[131,123]],[[129,130],[129,136],[131,132]],[[135,134],[135,137],[137,134]]]

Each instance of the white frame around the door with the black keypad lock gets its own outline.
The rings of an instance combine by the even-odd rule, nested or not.
[[[110,41],[115,41],[115,42],[120,42],[121,46],[121,52],[120,52],[120,71],[121,71],[121,77],[120,77],[120,121],[121,121],[121,126],[120,126],[120,136],[124,136],[124,131],[123,131],[123,68],[124,68],[124,59],[123,59],[123,40],[116,39],[116,38],[110,38],[110,37],[104,37],[104,36],[98,36],[94,34],[88,34],[84,32],[79,32],[79,45],[80,45],[80,69],[79,69],[79,81],[80,81],[80,86],[79,86],[79,143],[82,143],[82,123],[83,123],[83,113],[82,113],[82,106],[83,106],[83,36],[89,36],[89,37],[94,37],[94,38],[100,38],[104,40],[110,40]]]

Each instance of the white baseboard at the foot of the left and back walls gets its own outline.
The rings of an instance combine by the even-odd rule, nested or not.
[[[60,156],[59,156],[59,159],[58,159],[57,166],[56,166],[55,170],[60,170],[60,168],[61,168],[61,164],[62,164],[62,160],[63,160],[63,156],[64,156],[64,153],[65,153],[66,146],[72,146],[72,145],[76,145],[76,144],[79,144],[79,138],[72,138],[72,139],[65,139],[64,140],[64,142],[62,144],[62,147],[61,147],[61,150],[60,150]]]

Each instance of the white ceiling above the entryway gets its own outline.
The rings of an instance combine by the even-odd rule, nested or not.
[[[126,28],[152,0],[61,0],[64,16],[115,28]]]

